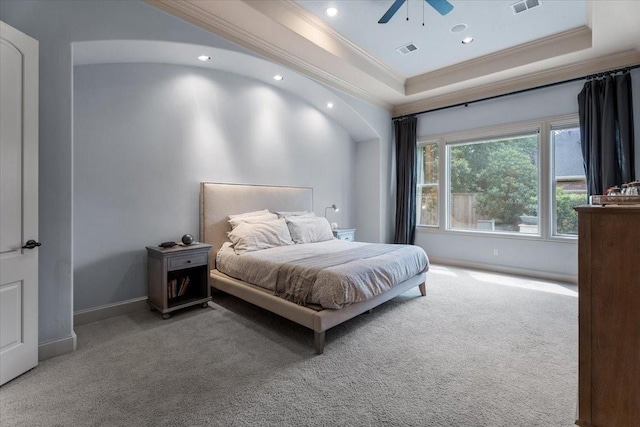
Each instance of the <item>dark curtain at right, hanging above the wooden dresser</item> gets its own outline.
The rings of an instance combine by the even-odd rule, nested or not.
[[[582,158],[589,195],[635,180],[631,75],[590,80],[578,94]]]

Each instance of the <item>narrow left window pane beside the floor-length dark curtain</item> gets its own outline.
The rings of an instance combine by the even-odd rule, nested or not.
[[[418,147],[418,194],[416,197],[419,225],[438,225],[438,144]]]

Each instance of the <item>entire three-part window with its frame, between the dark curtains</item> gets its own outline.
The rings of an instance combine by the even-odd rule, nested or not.
[[[587,203],[587,191],[575,114],[430,136],[418,144],[416,167],[420,227],[577,236],[574,207]]]

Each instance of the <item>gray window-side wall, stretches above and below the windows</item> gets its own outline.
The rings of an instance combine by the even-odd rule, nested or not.
[[[640,123],[640,69],[632,71],[634,122]],[[584,82],[572,82],[491,101],[427,113],[418,118],[418,136],[477,129],[578,112]],[[636,171],[640,172],[640,126],[635,127]],[[416,244],[432,259],[458,265],[517,271],[574,281],[578,274],[576,240],[522,239],[419,228]],[[498,256],[493,250],[498,249]]]

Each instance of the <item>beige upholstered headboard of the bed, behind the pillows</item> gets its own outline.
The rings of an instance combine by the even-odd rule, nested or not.
[[[228,241],[229,214],[260,209],[313,211],[313,189],[271,185],[200,183],[200,241],[213,245],[212,259]],[[212,263],[211,265],[214,265]]]

